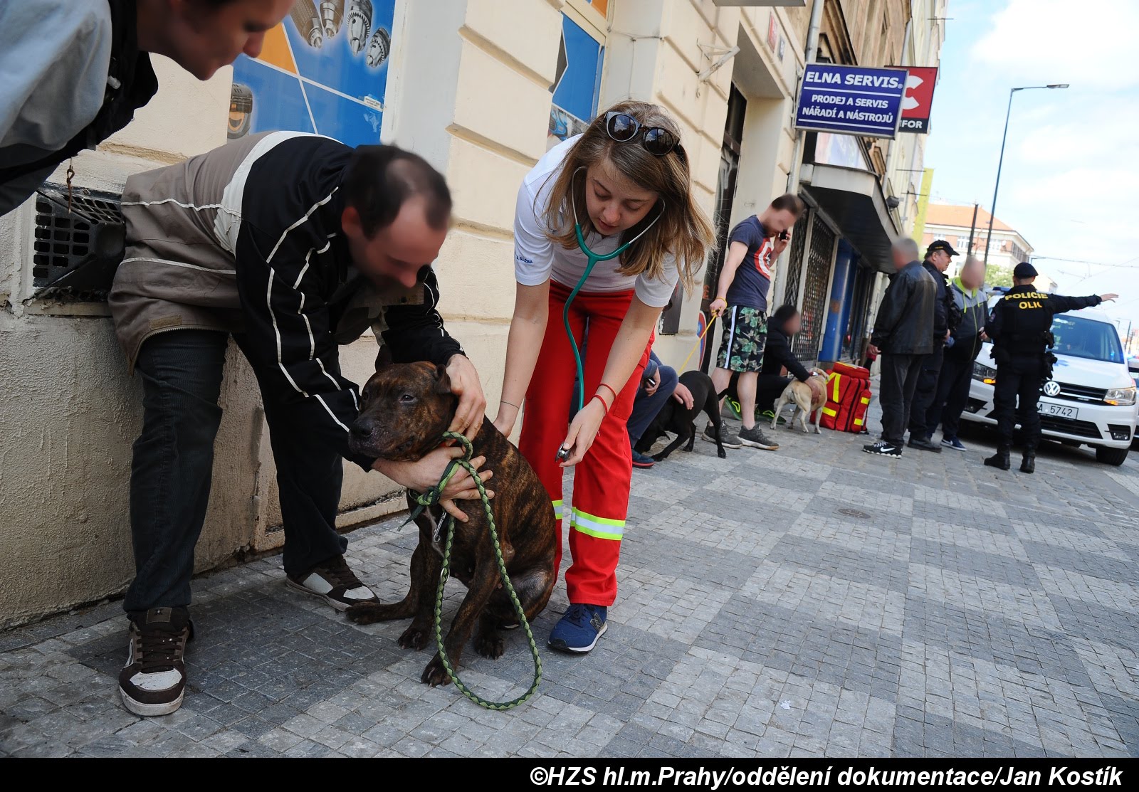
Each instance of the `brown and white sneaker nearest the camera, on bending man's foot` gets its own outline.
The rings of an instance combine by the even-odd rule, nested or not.
[[[186,693],[186,642],[194,625],[185,608],[151,608],[130,614],[126,665],[118,673],[123,706],[134,715],[170,715]]]

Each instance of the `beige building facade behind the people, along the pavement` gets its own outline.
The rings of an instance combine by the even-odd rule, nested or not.
[[[761,212],[787,189],[794,170],[792,118],[812,1],[823,0],[395,0],[386,90],[382,102],[370,102],[383,110],[376,134],[423,154],[451,185],[454,228],[436,263],[441,308],[481,372],[492,413],[514,305],[515,196],[526,171],[556,138],[599,109],[636,98],[677,117],[696,197],[724,232]],[[861,65],[928,63],[941,33],[907,31],[915,19],[944,16],[944,5],[826,0],[819,53]],[[592,68],[584,76],[575,71],[583,51]],[[162,83],[156,99],[98,151],[76,157],[80,195],[85,189],[114,195],[131,173],[226,141],[227,109],[237,96],[231,69],[199,83],[170,61],[155,60]],[[909,192],[919,191],[908,174],[899,178],[921,167],[917,138],[834,146],[861,158],[847,170],[861,172],[854,178],[867,193],[862,198],[880,206],[899,232],[915,214]],[[817,291],[820,277],[808,272],[812,266],[823,270],[827,288],[831,284],[845,231],[811,195],[812,184],[820,191],[823,176],[823,168],[809,162],[802,184],[812,204],[805,222],[829,232],[829,249],[822,250],[820,231],[819,261],[804,267],[812,248],[800,249],[796,272],[785,255],[775,304],[777,297],[803,304],[809,295],[798,287],[809,275]],[[60,168],[52,181],[63,179]],[[896,207],[885,206],[890,196],[900,199]],[[128,492],[141,391],[126,374],[105,303],[91,295],[49,296],[35,287],[36,242],[47,241],[43,222],[35,200],[0,218],[0,388],[8,395],[0,405],[0,578],[6,581],[0,627],[114,596],[133,575]],[[866,269],[880,267],[874,261]],[[787,284],[787,272],[796,272],[798,287]],[[674,300],[662,320],[656,349],[666,363],[679,365],[697,343],[703,286]],[[869,319],[878,283],[871,279],[865,288]],[[814,320],[820,327],[826,314],[844,311],[841,300],[833,305],[826,298],[821,308]],[[819,331],[816,340],[821,338]],[[718,340],[719,333],[710,335],[707,354]],[[813,353],[808,357],[817,358],[818,347]],[[342,349],[345,373],[358,382],[374,358],[371,338]],[[235,349],[221,404],[199,570],[282,542],[268,430],[252,372]],[[345,528],[402,508],[391,481],[354,465],[345,471]]]

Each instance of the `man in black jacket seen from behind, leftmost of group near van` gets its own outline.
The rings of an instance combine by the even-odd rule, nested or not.
[[[869,352],[882,355],[882,439],[862,451],[901,456],[906,424],[918,374],[933,350],[937,284],[918,261],[918,244],[903,238],[893,246],[894,267],[878,306]]]

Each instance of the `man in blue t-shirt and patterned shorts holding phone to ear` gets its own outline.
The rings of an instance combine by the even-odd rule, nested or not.
[[[776,198],[763,214],[752,215],[739,222],[728,237],[728,255],[720,271],[716,297],[710,306],[723,320],[723,340],[712,382],[716,393],[723,393],[731,382],[732,372],[739,373],[736,388],[744,428],[737,437],[723,428],[723,445],[738,448],[776,451],[778,443],[770,442],[755,426],[755,385],[768,340],[768,291],[775,261],[790,240],[790,226],[803,214],[803,201],[787,193]],[[704,429],[704,439],[714,443],[715,429],[711,423]]]

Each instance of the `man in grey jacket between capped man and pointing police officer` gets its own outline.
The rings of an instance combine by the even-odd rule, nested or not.
[[[977,358],[981,345],[989,339],[985,335],[989,307],[985,290],[981,288],[984,280],[985,265],[969,256],[949,286],[953,306],[961,319],[945,343],[945,360],[937,377],[937,397],[926,413],[926,427],[932,432],[941,423],[941,445],[953,451],[966,449],[957,438],[957,429],[969,399],[973,361]]]

